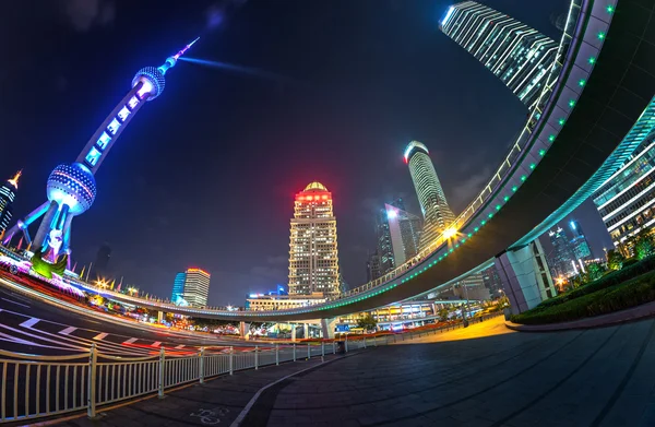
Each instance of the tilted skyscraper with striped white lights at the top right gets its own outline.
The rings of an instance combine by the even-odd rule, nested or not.
[[[536,106],[558,43],[475,1],[451,5],[441,31],[498,76],[529,109]]]

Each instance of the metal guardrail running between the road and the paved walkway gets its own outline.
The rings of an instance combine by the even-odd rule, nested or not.
[[[471,319],[471,323],[502,315],[491,313]],[[86,353],[68,356],[36,356],[0,351],[0,424],[62,415],[86,410],[90,418],[96,411],[119,401],[157,393],[166,389],[235,371],[259,369],[298,359],[323,357],[337,352],[352,352],[398,341],[437,334],[464,324],[424,329],[380,336],[348,337],[332,342],[279,345],[252,352],[117,357],[99,353],[95,344]],[[343,346],[340,348],[340,346]]]

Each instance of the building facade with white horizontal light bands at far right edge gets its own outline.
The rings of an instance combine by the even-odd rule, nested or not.
[[[655,132],[648,134],[623,164],[592,195],[615,247],[655,224]],[[631,253],[624,253],[631,256]]]

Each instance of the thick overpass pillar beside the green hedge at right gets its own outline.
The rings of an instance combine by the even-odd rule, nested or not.
[[[512,304],[512,315],[529,310],[557,295],[539,239],[501,253],[495,263]]]

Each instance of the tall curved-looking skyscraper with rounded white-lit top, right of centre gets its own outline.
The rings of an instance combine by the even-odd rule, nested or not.
[[[455,215],[448,205],[428,147],[418,141],[412,141],[405,150],[405,163],[409,165],[409,174],[425,218],[419,244],[421,250],[455,221]]]

